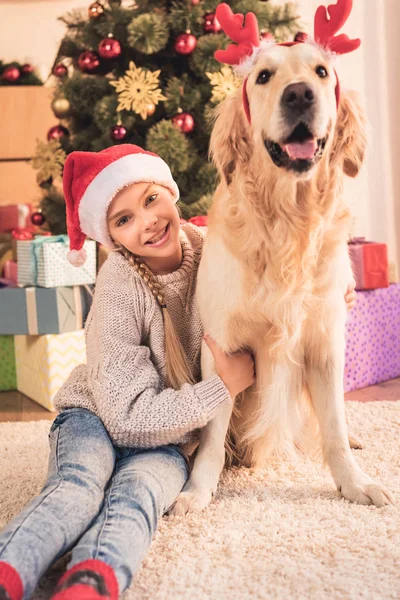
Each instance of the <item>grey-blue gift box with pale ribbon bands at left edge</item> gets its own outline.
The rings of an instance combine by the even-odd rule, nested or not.
[[[81,329],[93,286],[0,289],[0,334],[50,334]]]

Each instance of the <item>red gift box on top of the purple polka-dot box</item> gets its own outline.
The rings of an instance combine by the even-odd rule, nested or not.
[[[386,244],[354,238],[348,244],[356,290],[388,287],[389,261]]]

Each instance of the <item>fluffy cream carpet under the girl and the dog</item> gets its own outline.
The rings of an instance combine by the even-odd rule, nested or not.
[[[356,506],[319,465],[232,470],[201,515],[164,518],[124,600],[400,598],[400,401],[347,403],[396,506]],[[38,492],[49,422],[0,424],[0,526]],[[48,598],[64,562],[41,582]]]

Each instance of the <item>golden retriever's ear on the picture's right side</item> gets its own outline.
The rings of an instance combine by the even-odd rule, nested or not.
[[[367,146],[367,120],[355,92],[342,92],[336,122],[332,156],[349,177],[355,177]]]

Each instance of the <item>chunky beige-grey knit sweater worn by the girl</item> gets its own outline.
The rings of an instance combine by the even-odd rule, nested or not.
[[[113,252],[99,272],[86,322],[87,364],[74,369],[55,398],[59,410],[82,407],[98,415],[117,446],[196,441],[199,429],[231,403],[218,375],[200,381],[203,329],[194,293],[203,235],[185,224],[180,237],[180,268],[157,281],[199,383],[165,387],[161,308],[130,263]]]

